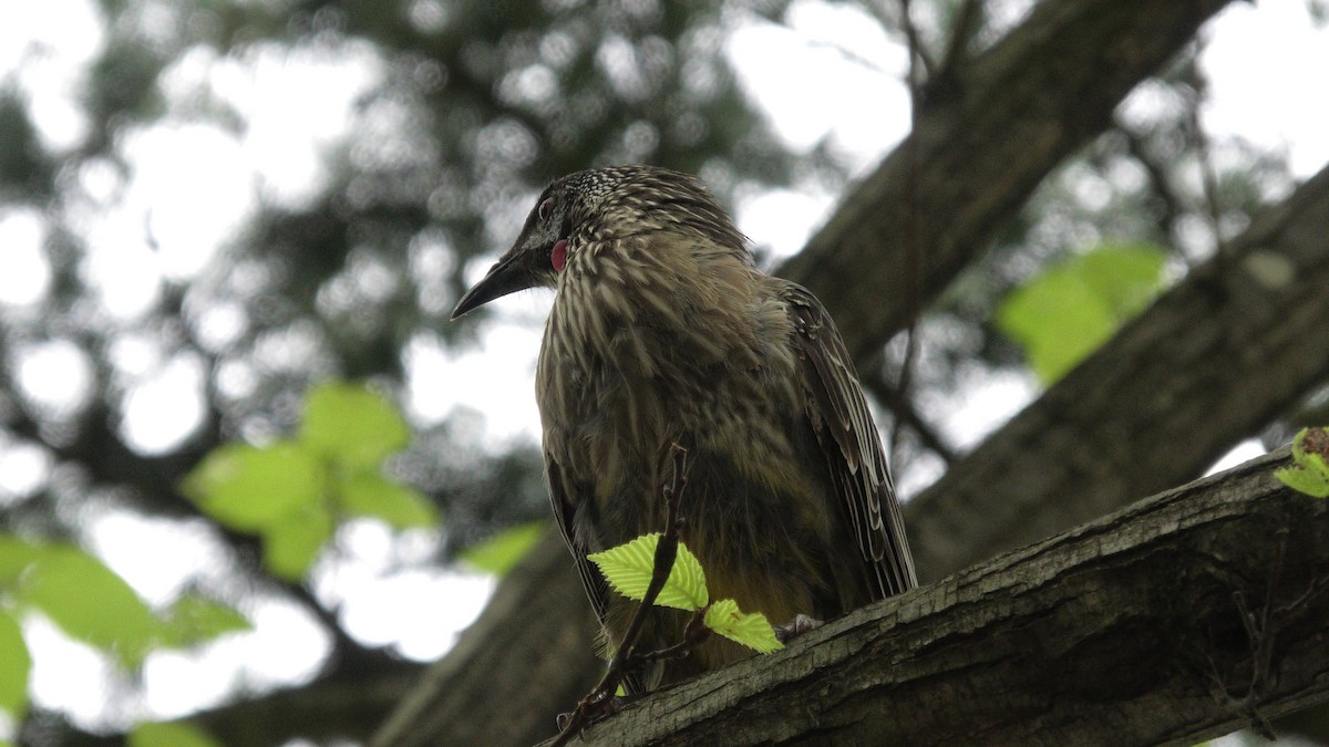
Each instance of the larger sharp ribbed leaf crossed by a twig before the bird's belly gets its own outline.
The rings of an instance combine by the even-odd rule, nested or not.
[[[639,602],[646,597],[646,587],[651,582],[651,570],[655,568],[655,546],[659,544],[659,532],[645,534],[617,548],[586,557],[599,566],[601,573],[605,574],[615,591]],[[691,611],[704,607],[707,599],[706,573],[702,570],[702,564],[698,562],[691,550],[683,546],[683,542],[679,542],[674,568],[670,569],[668,580],[664,581],[664,587],[661,589],[655,603]]]

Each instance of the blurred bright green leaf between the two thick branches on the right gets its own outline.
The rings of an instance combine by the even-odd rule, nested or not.
[[[1148,243],[1104,245],[1075,257],[1011,291],[997,307],[997,326],[1050,384],[1158,295],[1166,257]]]

